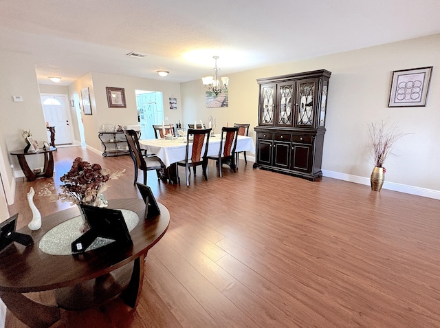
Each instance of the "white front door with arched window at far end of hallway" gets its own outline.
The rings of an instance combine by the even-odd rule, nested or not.
[[[72,119],[66,95],[41,94],[44,117],[50,127],[55,127],[55,144],[72,144]]]

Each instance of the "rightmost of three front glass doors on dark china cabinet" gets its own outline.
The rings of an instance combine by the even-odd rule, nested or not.
[[[298,107],[296,108],[296,127],[314,126],[314,103],[316,79],[298,82]]]

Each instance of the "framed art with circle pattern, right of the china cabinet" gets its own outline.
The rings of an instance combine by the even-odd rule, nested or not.
[[[393,72],[388,107],[426,106],[432,66]]]

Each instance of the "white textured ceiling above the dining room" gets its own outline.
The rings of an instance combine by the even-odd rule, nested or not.
[[[437,34],[439,12],[439,0],[0,0],[0,50],[32,54],[39,83],[184,82],[211,75],[214,55],[224,75]]]

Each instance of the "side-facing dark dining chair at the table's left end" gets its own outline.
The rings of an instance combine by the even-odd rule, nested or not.
[[[157,156],[143,155],[140,148],[139,138],[134,130],[124,130],[126,142],[129,146],[130,156],[135,164],[135,181],[137,182],[137,172],[142,170],[144,172],[144,184],[146,184],[147,171],[156,170],[157,178],[162,177],[162,171],[165,168],[164,164]]]

